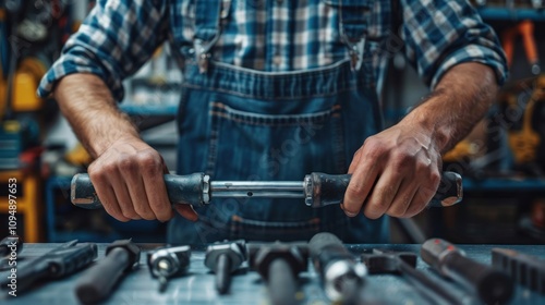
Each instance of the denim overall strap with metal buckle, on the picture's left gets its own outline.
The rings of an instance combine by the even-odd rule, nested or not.
[[[210,50],[221,36],[222,21],[229,16],[231,0],[195,0],[193,41],[201,73],[208,71]]]

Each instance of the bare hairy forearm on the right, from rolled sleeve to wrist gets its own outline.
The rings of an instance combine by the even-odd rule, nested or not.
[[[465,137],[486,114],[497,90],[492,69],[473,62],[458,64],[399,124],[422,127],[433,142],[422,144],[436,145],[437,150],[444,154]]]

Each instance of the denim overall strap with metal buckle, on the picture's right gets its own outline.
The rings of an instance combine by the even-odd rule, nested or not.
[[[349,48],[352,70],[359,70],[362,63],[361,54],[367,34],[372,0],[338,0],[339,30],[342,42]]]

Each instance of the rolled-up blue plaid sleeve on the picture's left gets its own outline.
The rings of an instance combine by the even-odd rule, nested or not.
[[[122,80],[140,69],[167,37],[168,12],[164,2],[97,1],[41,78],[38,95],[51,94],[65,75],[92,73],[106,83],[117,100],[122,100]]]

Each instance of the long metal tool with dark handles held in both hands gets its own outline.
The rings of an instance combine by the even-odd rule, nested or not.
[[[344,197],[350,174],[314,172],[303,181],[210,181],[204,173],[165,175],[167,193],[172,204],[205,206],[213,198],[304,198],[307,206],[319,208],[338,205]],[[75,206],[95,209],[102,206],[89,175],[74,175],[71,199]],[[428,206],[445,207],[462,199],[462,179],[458,173],[444,172],[440,185]]]

